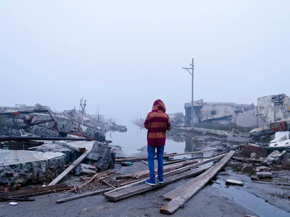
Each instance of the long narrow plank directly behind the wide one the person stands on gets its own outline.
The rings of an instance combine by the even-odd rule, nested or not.
[[[170,171],[170,172],[166,172],[166,173],[163,174],[163,177],[166,178],[166,177],[168,177],[168,176],[173,176],[173,175],[179,174],[179,173],[181,173],[181,172],[185,172],[185,171],[187,171],[187,170],[191,170],[192,168],[195,168],[195,167],[198,167],[198,166],[204,165],[204,164],[209,163],[209,162],[211,162],[211,161],[218,160],[218,159],[220,159],[220,158],[223,158],[224,156],[226,156],[226,154],[224,154],[224,155],[219,155],[219,156],[217,156],[217,157],[213,157],[213,158],[211,158],[211,159],[208,159],[208,160],[206,160],[206,161],[202,161],[202,162],[200,162],[200,163],[195,163],[195,164],[192,164],[192,165],[188,165],[188,166],[186,166],[186,167],[182,167],[182,168],[179,168],[179,169],[177,169],[177,170],[172,170],[172,171]],[[127,185],[122,186],[122,187],[118,187],[117,189],[111,190],[111,191],[108,192],[108,193],[115,192],[115,191],[119,191],[119,190],[121,190],[121,189],[129,188],[129,187],[132,187],[132,186],[135,186],[135,185],[140,185],[140,184],[142,184],[145,180],[146,180],[146,179],[138,179],[138,180],[134,180],[134,182],[133,182],[133,181],[130,181],[130,183],[127,183]],[[106,193],[105,193],[105,194],[106,194]]]

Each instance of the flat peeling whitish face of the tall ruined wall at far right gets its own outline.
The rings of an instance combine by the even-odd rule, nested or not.
[[[269,126],[271,122],[275,121],[273,96],[259,97],[258,102],[258,117],[259,127]]]

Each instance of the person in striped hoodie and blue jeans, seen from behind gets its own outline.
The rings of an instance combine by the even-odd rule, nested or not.
[[[165,113],[166,108],[162,100],[155,100],[152,111],[148,113],[144,122],[147,132],[147,152],[150,178],[145,182],[148,185],[155,185],[154,158],[157,150],[157,181],[163,183],[163,154],[166,140],[166,130],[171,129],[169,116]]]

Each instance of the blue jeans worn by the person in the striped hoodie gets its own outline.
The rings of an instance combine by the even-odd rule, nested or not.
[[[164,146],[147,146],[150,179],[155,179],[155,169],[154,169],[155,148],[157,149],[157,163],[158,163],[157,177],[163,178]]]

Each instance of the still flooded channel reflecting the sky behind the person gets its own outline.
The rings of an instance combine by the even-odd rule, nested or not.
[[[122,147],[122,151],[127,155],[134,155],[140,152],[140,149],[146,150],[147,145],[147,130],[140,128],[132,123],[126,124],[128,131],[126,133],[107,132],[106,139],[112,140],[113,145]],[[145,149],[144,149],[145,146]],[[139,149],[139,150],[138,150]],[[182,136],[173,131],[166,133],[166,145],[164,152],[166,153],[186,153],[199,150],[206,150],[209,147],[203,143],[193,143],[190,137]],[[208,153],[198,153],[191,155],[176,156],[175,159],[193,157],[208,157]]]

